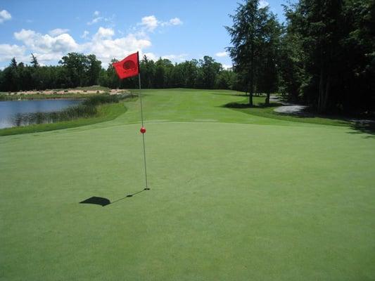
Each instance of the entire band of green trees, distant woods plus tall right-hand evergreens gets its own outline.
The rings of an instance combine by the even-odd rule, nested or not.
[[[375,108],[375,0],[299,0],[285,6],[281,24],[259,0],[244,0],[231,15],[227,48],[234,67],[210,56],[172,63],[141,59],[143,88],[234,89],[284,93],[319,112],[367,112]],[[115,61],[115,60],[113,60]],[[57,66],[11,64],[0,72],[0,91],[60,89],[100,84],[132,89],[112,65],[95,55],[68,53]],[[269,100],[266,100],[266,103]]]

